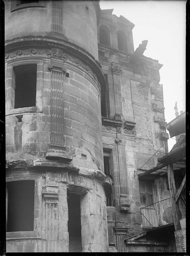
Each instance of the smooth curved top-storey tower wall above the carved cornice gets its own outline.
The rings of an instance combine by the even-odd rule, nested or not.
[[[40,0],[18,8],[16,2],[5,2],[6,40],[23,35],[48,35],[77,44],[98,59],[94,3]]]

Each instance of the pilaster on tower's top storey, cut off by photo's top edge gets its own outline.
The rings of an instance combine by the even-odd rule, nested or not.
[[[62,34],[62,1],[52,1],[52,25],[51,31]]]

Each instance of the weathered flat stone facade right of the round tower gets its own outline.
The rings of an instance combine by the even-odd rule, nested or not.
[[[165,128],[160,125],[160,121],[164,121],[162,86],[159,84],[161,65],[158,61],[145,57],[133,65],[130,62],[130,55],[117,51],[118,21],[108,12],[102,12],[103,17],[99,23],[99,26],[105,24],[109,27],[109,19],[115,21],[114,25],[111,25],[111,47],[115,48],[114,51],[99,45],[99,61],[103,73],[108,76],[109,92],[109,113],[102,121],[103,147],[112,150],[113,160],[113,206],[107,207],[108,236],[109,243],[115,244],[119,252],[136,251],[137,248],[126,249],[123,239],[142,230],[142,218],[139,213],[139,169],[147,170],[156,166],[159,153],[163,154],[165,151],[165,147],[162,146],[165,141],[160,135],[161,132],[165,133]],[[132,52],[132,49],[130,50]],[[157,105],[154,105],[155,103]],[[118,112],[121,122],[116,120]],[[119,149],[120,143],[124,145],[125,150]],[[158,153],[152,157],[158,149]],[[122,207],[124,176],[128,198],[128,203],[125,201],[125,207],[128,204],[127,210],[123,210]],[[137,250],[146,248],[139,247]],[[160,249],[162,250],[164,248]]]

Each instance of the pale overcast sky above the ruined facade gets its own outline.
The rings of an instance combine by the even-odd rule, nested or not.
[[[135,25],[134,49],[148,40],[144,55],[163,64],[160,84],[166,122],[175,118],[175,102],[179,113],[185,111],[185,6],[184,0],[100,0],[101,9],[113,9],[113,14],[122,15]],[[175,143],[168,140],[169,150]]]

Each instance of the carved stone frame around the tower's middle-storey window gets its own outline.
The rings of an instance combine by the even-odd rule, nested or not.
[[[25,108],[14,108],[14,96],[15,92],[13,93],[13,68],[20,65],[27,65],[27,64],[37,64],[37,81],[36,81],[36,106],[25,107]],[[28,112],[42,112],[43,109],[43,70],[41,66],[43,64],[43,59],[41,58],[20,58],[19,60],[13,60],[7,63],[6,71],[7,73],[11,74],[11,77],[6,77],[6,88],[11,89],[10,94],[11,100],[6,101],[6,116],[11,114],[18,114],[18,113],[28,113]]]

